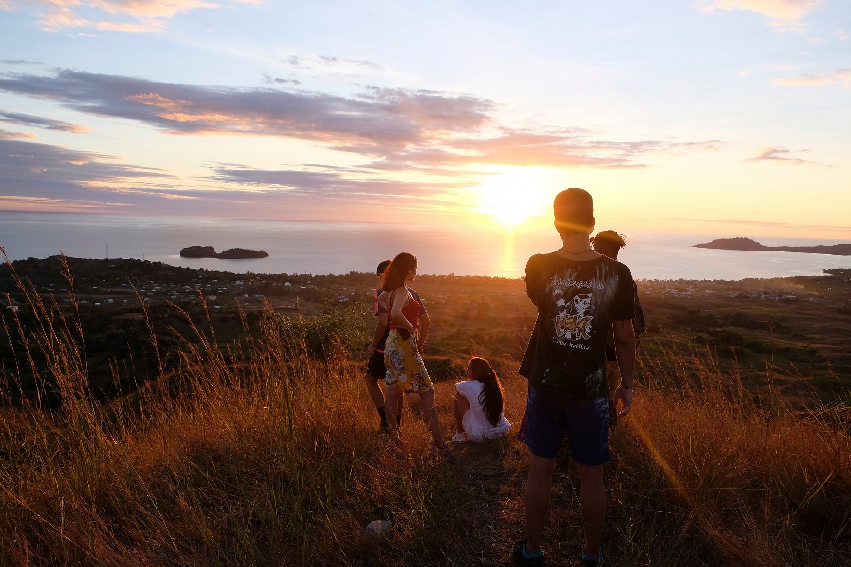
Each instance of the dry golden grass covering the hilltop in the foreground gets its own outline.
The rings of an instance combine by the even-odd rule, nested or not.
[[[31,306],[44,326],[30,348],[47,354],[64,405],[3,407],[0,564],[491,565],[522,536],[525,447],[460,445],[459,464],[436,462],[409,406],[403,444],[388,443],[361,363],[333,337],[311,358],[316,329],[270,309],[247,347],[199,331],[178,369],[103,404],[87,394],[73,318],[50,323],[58,307],[37,294]],[[525,380],[495,362],[518,426]],[[697,380],[685,362],[641,369],[614,434],[611,563],[851,564],[848,400],[801,415],[751,400],[709,354],[688,360]],[[447,438],[452,394],[437,383]],[[578,486],[560,458],[548,564],[578,564]],[[374,519],[390,533],[369,535]]]

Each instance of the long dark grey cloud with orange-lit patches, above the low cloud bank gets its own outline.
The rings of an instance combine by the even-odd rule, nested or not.
[[[0,78],[0,90],[76,111],[146,122],[170,133],[274,135],[347,145],[411,145],[490,122],[494,103],[425,90],[371,89],[358,97],[276,88],[205,87],[60,71]]]

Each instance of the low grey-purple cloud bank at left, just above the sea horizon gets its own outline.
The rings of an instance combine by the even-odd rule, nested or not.
[[[218,164],[210,175],[187,184],[161,169],[21,140],[26,137],[0,129],[0,208],[162,212],[168,207],[175,214],[214,214],[227,203],[232,214],[282,216],[298,207],[315,211],[317,201],[326,201],[346,218],[351,207],[451,210],[458,207],[457,191],[477,184],[400,181],[322,164],[304,166],[312,170]]]

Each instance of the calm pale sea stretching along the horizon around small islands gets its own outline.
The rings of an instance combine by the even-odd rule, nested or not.
[[[718,235],[628,235],[620,261],[637,279],[741,280],[820,275],[851,268],[851,257],[801,252],[694,248]],[[755,238],[768,246],[837,244],[814,239]],[[192,245],[266,250],[269,258],[180,258]],[[0,246],[9,259],[65,252],[77,258],[146,258],[187,268],[258,274],[370,272],[397,252],[414,252],[421,274],[519,277],[528,257],[561,246],[555,231],[494,234],[391,224],[271,221],[0,211]]]

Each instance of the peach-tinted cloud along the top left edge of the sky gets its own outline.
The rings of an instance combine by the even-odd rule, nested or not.
[[[257,1],[231,0],[232,3]],[[203,0],[5,0],[0,8],[33,10],[43,31],[87,28],[151,33],[163,31],[167,21],[178,14],[220,8],[220,4]]]

